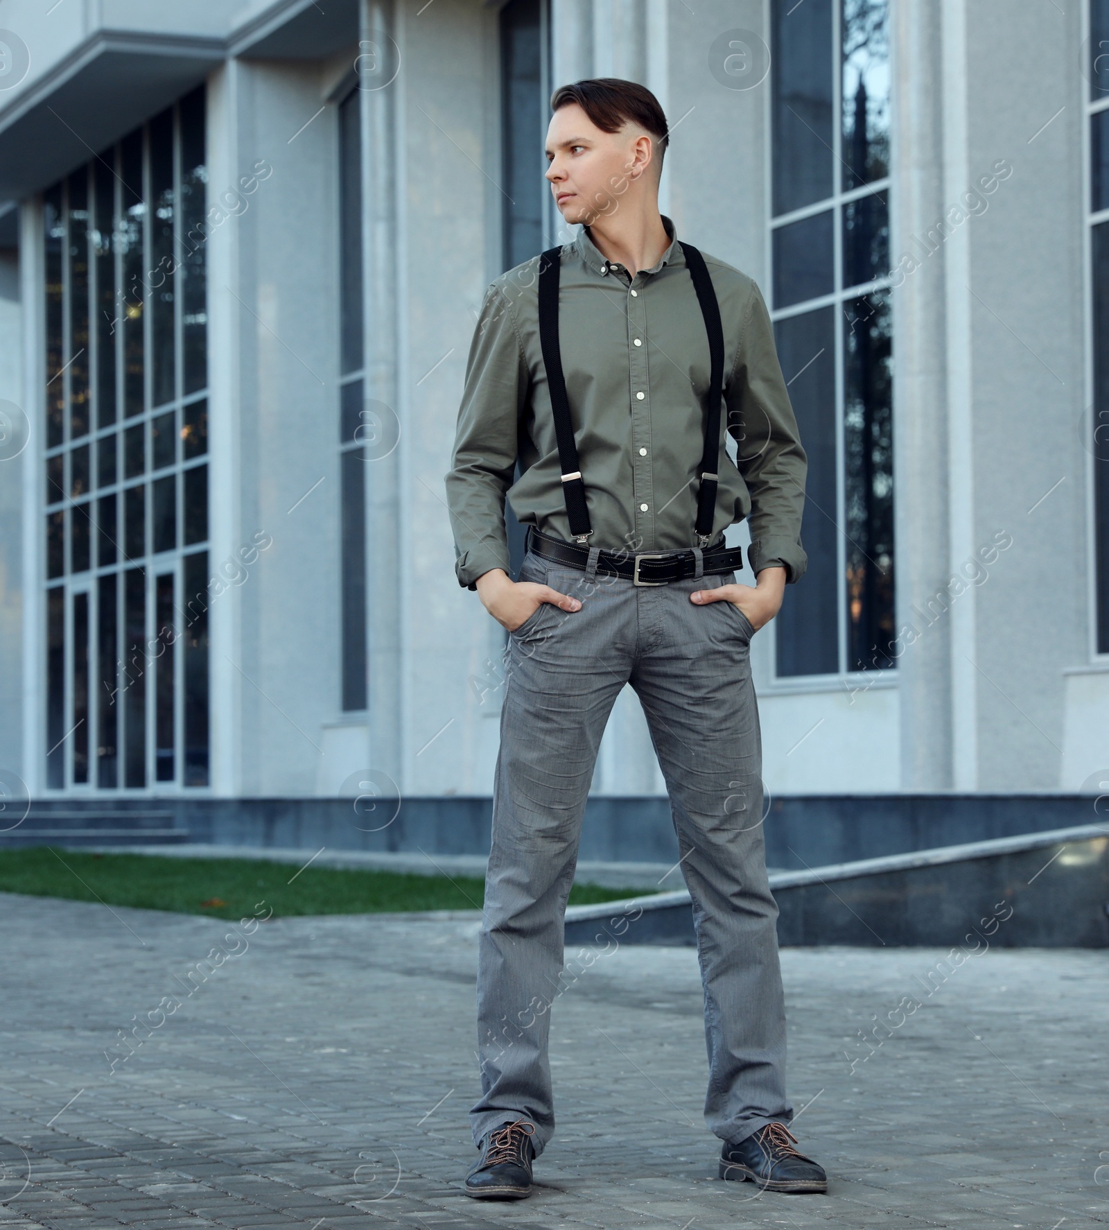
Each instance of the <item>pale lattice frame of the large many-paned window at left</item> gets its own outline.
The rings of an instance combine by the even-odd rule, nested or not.
[[[204,86],[197,87],[198,90],[204,90]],[[204,453],[186,458],[184,455],[184,443],[182,440],[182,428],[184,424],[184,413],[187,407],[209,403],[210,401],[210,370],[207,368],[205,358],[205,380],[200,389],[193,391],[186,391],[186,358],[184,358],[184,344],[186,333],[183,325],[184,315],[184,295],[182,293],[183,278],[182,271],[186,267],[186,262],[182,258],[184,256],[184,231],[182,209],[184,194],[182,192],[183,177],[186,169],[182,166],[182,118],[181,118],[181,103],[184,98],[193,95],[195,91],[186,91],[180,98],[176,98],[168,108],[162,108],[157,116],[151,116],[133,128],[128,129],[127,133],[122,134],[117,141],[111,143],[108,146],[101,149],[92,157],[87,159],[76,167],[70,175],[63,176],[57,187],[60,188],[59,199],[61,202],[61,218],[63,218],[63,235],[60,237],[61,244],[61,355],[70,354],[73,351],[71,344],[71,321],[73,321],[73,300],[71,300],[71,261],[69,256],[70,248],[70,219],[69,219],[69,183],[77,175],[86,176],[86,191],[87,191],[87,213],[89,218],[86,221],[86,244],[87,244],[87,267],[86,267],[86,279],[87,279],[87,294],[90,301],[90,320],[89,320],[89,337],[86,342],[87,349],[87,430],[85,430],[80,437],[73,435],[73,421],[71,421],[71,397],[70,397],[70,383],[66,373],[73,364],[74,359],[70,358],[65,367],[61,368],[55,376],[48,376],[47,369],[47,347],[49,344],[49,326],[47,320],[47,263],[45,263],[45,248],[48,241],[47,234],[47,197],[53,192],[55,184],[52,184],[48,189],[39,193],[31,202],[31,209],[36,216],[36,226],[33,235],[28,235],[28,244],[34,245],[34,258],[33,258],[33,303],[34,303],[34,316],[32,317],[34,327],[32,333],[34,336],[34,362],[31,367],[34,379],[36,396],[33,399],[36,406],[36,413],[38,416],[38,423],[42,424],[42,435],[36,440],[36,446],[33,451],[33,474],[34,481],[30,485],[28,491],[28,515],[31,524],[33,525],[33,534],[31,536],[31,542],[33,542],[34,554],[34,583],[38,593],[38,600],[34,604],[28,604],[27,615],[28,619],[34,621],[34,626],[31,631],[31,641],[34,646],[33,651],[33,679],[38,690],[38,696],[42,701],[36,705],[34,713],[34,740],[33,745],[37,750],[37,775],[41,775],[41,788],[45,797],[63,798],[63,797],[80,797],[80,798],[102,798],[102,800],[119,800],[119,798],[151,798],[166,795],[180,795],[183,797],[203,797],[210,795],[211,792],[211,742],[210,742],[210,729],[211,729],[211,680],[210,680],[210,665],[208,669],[208,686],[205,689],[205,702],[208,706],[207,712],[207,728],[208,728],[208,769],[207,769],[207,782],[202,785],[188,785],[187,784],[187,748],[186,748],[186,727],[187,727],[187,712],[186,712],[186,629],[184,629],[184,616],[183,610],[186,608],[184,601],[184,561],[189,556],[203,555],[205,556],[205,572],[207,561],[210,557],[210,525],[208,523],[208,509],[205,509],[205,536],[195,542],[187,544],[184,541],[184,475],[189,470],[195,470],[199,467],[208,467],[210,464],[210,453],[208,446],[205,446]],[[207,150],[207,90],[203,95],[203,124],[205,128],[205,162],[208,166],[208,150]],[[151,154],[150,154],[150,129],[155,119],[160,118],[165,111],[171,112],[171,130],[172,130],[172,157],[171,157],[171,175],[172,175],[172,191],[173,191],[173,234],[170,239],[172,262],[173,262],[173,305],[172,305],[172,347],[173,347],[173,383],[172,383],[172,396],[167,401],[160,402],[157,406],[152,403],[154,396],[154,368],[155,357],[152,352],[154,347],[154,311],[151,310],[151,294],[156,290],[156,287],[151,285],[154,280],[154,274],[157,272],[152,266],[152,250],[154,250],[154,225],[156,218],[156,203],[151,198]],[[112,416],[112,421],[108,423],[102,422],[102,412],[100,407],[100,395],[103,390],[100,387],[100,348],[97,344],[98,333],[95,328],[98,312],[102,308],[101,301],[101,287],[100,277],[101,268],[100,261],[97,260],[97,252],[93,241],[93,232],[97,230],[96,221],[96,187],[100,181],[100,176],[111,175],[112,177],[112,241],[111,241],[111,264],[114,279],[114,310],[120,311],[120,305],[128,299],[127,288],[123,284],[124,276],[124,253],[118,242],[118,224],[124,209],[125,202],[122,197],[120,186],[120,145],[125,138],[132,137],[134,133],[141,134],[143,143],[143,197],[145,205],[145,214],[143,221],[143,244],[141,244],[141,267],[143,267],[143,408],[138,413],[128,416],[125,405],[125,365],[124,365],[124,330],[122,327],[116,328],[119,325],[122,316],[117,316],[113,321],[112,331],[112,349],[114,353],[114,376],[116,376],[116,408]],[[89,177],[90,169],[95,167],[93,177]],[[205,192],[207,198],[207,192]],[[200,213],[200,218],[205,216],[207,212],[207,199],[204,202],[204,209]],[[204,237],[204,245],[207,245],[207,232]],[[205,257],[205,299],[208,299],[207,290],[207,247],[204,250]],[[186,277],[188,274],[186,273]],[[159,283],[160,285],[161,283]],[[205,308],[205,315],[208,309]],[[208,339],[208,328],[205,323],[205,351]],[[64,401],[63,401],[63,424],[61,424],[61,442],[58,444],[48,443],[47,434],[47,415],[48,415],[48,380],[53,383],[54,379],[61,378],[64,381]],[[173,418],[173,430],[175,430],[175,456],[170,465],[155,467],[154,458],[154,440],[151,435],[152,422],[172,412]],[[144,449],[144,464],[141,477],[138,475],[128,478],[124,467],[123,456],[123,438],[128,428],[141,426],[143,428],[143,449]],[[36,433],[37,434],[37,433]],[[109,483],[101,483],[98,472],[98,442],[112,439],[116,442],[116,476]],[[64,494],[61,498],[53,496],[47,491],[45,485],[45,472],[48,459],[54,456],[61,456],[63,459],[73,456],[75,446],[87,446],[89,449],[89,486],[87,490],[81,496],[81,502],[75,501],[73,496],[71,481],[69,478],[71,471],[71,460],[63,460],[63,485]],[[155,483],[159,478],[172,475],[175,478],[175,545],[171,549],[155,551],[154,542],[154,522],[152,522],[152,492]],[[144,541],[141,555],[134,556],[130,561],[125,551],[125,513],[120,510],[124,508],[123,493],[130,488],[139,487],[144,492]],[[117,551],[116,558],[109,563],[102,563],[98,556],[98,534],[97,534],[97,520],[95,514],[95,507],[98,501],[106,496],[113,497],[117,503],[117,523],[116,523],[116,541]],[[89,567],[81,572],[73,571],[73,531],[68,528],[64,533],[63,540],[63,555],[64,563],[60,576],[50,576],[48,567],[48,545],[45,541],[45,520],[52,513],[63,512],[68,526],[71,526],[74,509],[79,507],[85,507],[89,510],[90,517],[90,542],[89,542]],[[136,680],[132,686],[141,688],[141,708],[143,708],[143,779],[144,784],[141,786],[128,786],[127,782],[127,765],[125,765],[125,728],[127,718],[120,718],[120,713],[125,712],[127,705],[127,605],[125,605],[125,576],[134,568],[141,568],[143,577],[143,616],[144,616],[144,663],[141,679]],[[170,780],[159,779],[159,748],[157,748],[157,717],[159,717],[159,700],[160,700],[160,684],[162,675],[160,672],[159,663],[162,661],[162,654],[152,654],[150,651],[150,645],[157,638],[157,592],[159,582],[166,576],[173,578],[173,609],[175,609],[175,631],[177,635],[171,646],[172,652],[172,723],[173,723],[173,777]],[[100,785],[101,765],[97,755],[97,749],[101,742],[101,704],[100,704],[100,648],[101,648],[101,625],[100,625],[100,590],[101,581],[105,577],[114,577],[116,581],[116,620],[114,620],[114,645],[116,645],[116,685],[117,691],[114,696],[116,704],[116,758],[114,758],[114,785]],[[61,601],[61,627],[63,627],[63,654],[61,654],[61,672],[63,672],[63,738],[59,743],[52,744],[50,737],[50,715],[49,715],[49,686],[50,686],[50,664],[49,664],[49,611],[50,611],[50,595],[53,593],[60,593],[63,595]],[[82,723],[74,724],[74,701],[76,694],[76,645],[75,645],[75,629],[74,629],[74,610],[75,600],[79,595],[86,595],[86,636],[87,641],[85,645],[85,661],[86,670],[85,679],[87,685],[87,711],[86,717]],[[205,613],[207,606],[210,603],[208,592],[205,589]],[[34,609],[37,608],[37,609]],[[208,620],[207,614],[204,617],[204,624],[207,627]],[[164,651],[166,652],[166,651]],[[207,657],[210,658],[210,642],[207,647]],[[84,781],[75,780],[75,758],[74,758],[74,743],[70,740],[74,738],[74,732],[77,729],[79,724],[84,724],[86,734],[87,756],[86,756],[86,774]],[[41,745],[39,745],[41,740]],[[60,747],[61,752],[61,781],[60,784],[50,784],[52,777],[52,765],[50,765],[50,753],[55,747]]]

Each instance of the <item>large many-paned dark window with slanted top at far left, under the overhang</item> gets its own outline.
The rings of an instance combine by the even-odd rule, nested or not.
[[[52,788],[209,784],[204,125],[200,87],[43,194]]]

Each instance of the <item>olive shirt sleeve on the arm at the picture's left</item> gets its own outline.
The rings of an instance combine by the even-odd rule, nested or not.
[[[518,422],[529,381],[509,295],[494,282],[482,300],[470,344],[445,480],[455,573],[459,584],[470,589],[491,568],[509,571],[504,497],[515,477]]]

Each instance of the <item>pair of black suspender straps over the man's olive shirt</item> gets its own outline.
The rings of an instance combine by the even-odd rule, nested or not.
[[[692,244],[681,244],[685,253],[704,331],[708,333],[709,380],[708,410],[704,416],[704,450],[701,455],[700,486],[697,490],[697,545],[708,546],[717,507],[717,465],[720,453],[720,403],[724,389],[724,326],[720,305],[717,301],[704,257]],[[548,248],[540,257],[539,266],[539,333],[551,391],[551,413],[554,418],[554,435],[558,440],[558,464],[562,469],[562,494],[569,517],[570,535],[579,542],[593,533],[589,509],[585,504],[585,483],[574,443],[574,426],[570,419],[569,401],[566,395],[566,378],[562,371],[562,351],[558,344],[558,274],[562,267],[562,248]]]

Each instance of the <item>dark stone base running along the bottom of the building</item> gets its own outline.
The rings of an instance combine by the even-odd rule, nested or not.
[[[1087,795],[794,795],[770,801],[766,861],[821,867],[1093,823]],[[18,815],[9,802],[0,828]],[[488,854],[489,798],[50,798],[0,846],[156,841]],[[69,836],[66,836],[69,834]],[[676,862],[666,798],[590,798],[582,860]]]

